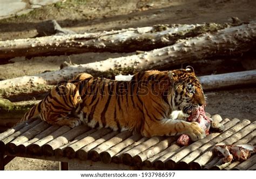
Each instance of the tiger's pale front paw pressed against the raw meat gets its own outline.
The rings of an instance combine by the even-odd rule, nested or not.
[[[188,133],[192,141],[197,141],[199,139],[204,139],[205,130],[199,126],[198,122],[190,122],[190,127],[188,128]]]

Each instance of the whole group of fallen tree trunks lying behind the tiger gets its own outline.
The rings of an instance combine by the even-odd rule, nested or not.
[[[56,22],[55,22],[56,23]],[[58,27],[62,31],[61,27]],[[64,30],[63,30],[64,31]],[[11,101],[43,97],[52,85],[80,72],[114,78],[144,70],[171,70],[184,64],[206,60],[208,66],[219,59],[238,58],[256,46],[256,22],[155,25],[97,33],[53,35],[0,41],[0,64],[19,56],[26,58],[85,52],[137,52],[95,63],[62,65],[60,70],[0,81],[0,111],[8,113],[18,104]],[[194,66],[197,68],[197,66]],[[212,65],[212,68],[217,68]],[[252,85],[256,70],[199,77],[205,90]],[[8,99],[6,102],[1,98]],[[15,99],[15,100],[14,100]],[[24,107],[21,107],[22,109]],[[28,107],[25,107],[28,109]],[[24,110],[25,110],[24,109]]]

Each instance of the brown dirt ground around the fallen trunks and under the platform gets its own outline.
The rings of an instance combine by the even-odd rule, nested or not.
[[[38,35],[37,27],[43,20],[56,19],[62,27],[76,31],[95,32],[127,27],[151,26],[154,24],[199,24],[231,22],[231,17],[243,21],[256,19],[254,0],[163,0],[163,1],[78,1],[44,6],[28,15],[0,21],[0,39],[30,38]],[[65,60],[85,64],[129,55],[127,53],[86,53],[69,57],[15,58],[11,64],[0,65],[0,79],[57,70]],[[253,59],[255,62],[255,59]],[[253,63],[255,65],[255,63]],[[231,64],[229,67],[233,68]],[[251,66],[251,65],[250,65]],[[251,66],[252,67],[252,66]],[[194,66],[197,71],[197,67]],[[216,67],[218,68],[218,66]],[[254,67],[256,68],[256,67]],[[207,108],[210,114],[220,114],[223,118],[249,119],[256,117],[256,87],[246,86],[225,91],[206,92]],[[23,159],[17,157],[7,166],[7,170],[57,170],[58,163]],[[103,169],[71,164],[70,168]],[[107,169],[107,168],[106,168]]]

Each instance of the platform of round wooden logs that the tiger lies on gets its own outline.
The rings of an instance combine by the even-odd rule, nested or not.
[[[212,133],[205,139],[180,147],[177,137],[142,137],[131,132],[91,129],[87,126],[50,126],[30,120],[0,134],[0,169],[14,157],[29,157],[68,163],[92,164],[145,170],[255,170],[256,155],[245,162],[220,163],[213,156],[216,144],[256,143],[256,123],[249,120],[225,119],[223,133]]]

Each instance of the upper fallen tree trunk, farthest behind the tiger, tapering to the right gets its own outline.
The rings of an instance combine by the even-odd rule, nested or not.
[[[231,25],[231,24],[230,24]],[[155,25],[83,35],[46,36],[0,41],[0,59],[53,56],[85,52],[149,51],[174,44],[178,39],[224,29],[228,24]],[[234,24],[233,24],[234,25]],[[1,63],[1,61],[0,61]]]

